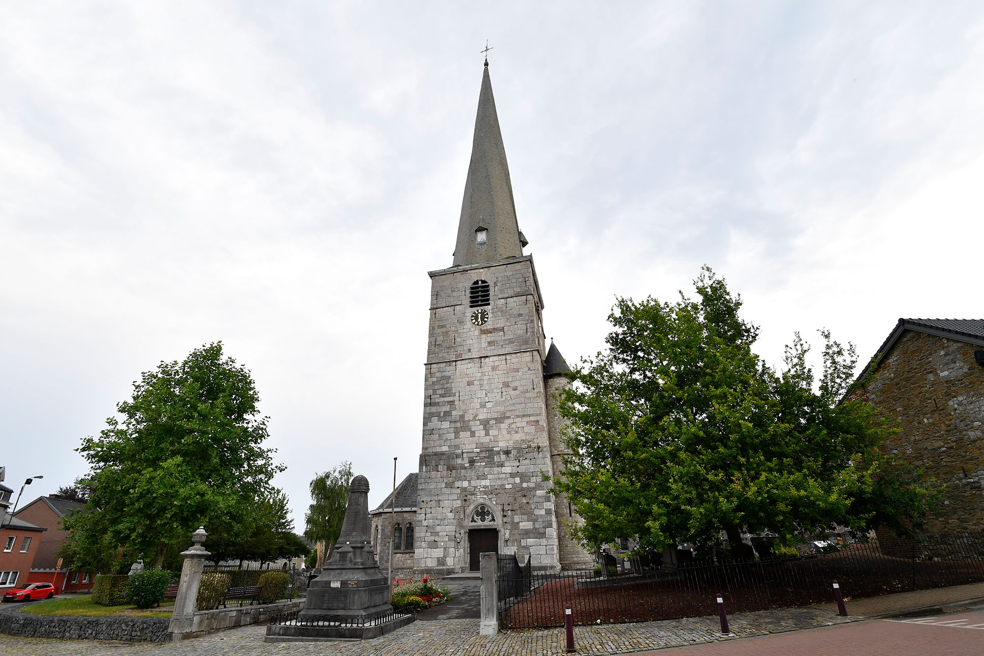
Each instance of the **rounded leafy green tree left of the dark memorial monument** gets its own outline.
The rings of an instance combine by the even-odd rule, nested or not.
[[[249,370],[223,357],[220,342],[144,372],[117,405],[122,419],[107,419],[78,449],[107,536],[159,566],[167,545],[200,525],[231,532],[246,523],[244,508],[284,469],[263,447],[269,418],[259,400]]]

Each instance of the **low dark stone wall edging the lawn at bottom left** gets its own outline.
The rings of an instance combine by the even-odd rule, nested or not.
[[[0,612],[0,633],[72,640],[162,642],[168,620],[163,618],[77,618],[31,615],[20,608]]]

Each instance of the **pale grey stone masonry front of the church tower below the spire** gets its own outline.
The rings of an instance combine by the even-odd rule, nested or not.
[[[500,553],[558,568],[547,436],[542,302],[529,257],[431,274],[417,507],[419,573],[468,566],[470,508],[496,515]],[[489,320],[471,324],[468,288],[491,288]]]

